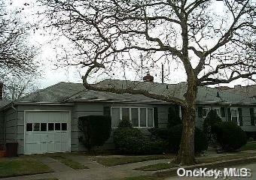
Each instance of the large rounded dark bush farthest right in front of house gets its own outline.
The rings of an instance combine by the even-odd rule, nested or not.
[[[245,132],[237,124],[231,121],[222,121],[212,126],[217,141],[225,151],[233,151],[241,148],[247,142]]]

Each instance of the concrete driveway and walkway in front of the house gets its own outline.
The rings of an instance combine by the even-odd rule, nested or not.
[[[151,165],[154,163],[166,163],[169,159],[161,160],[149,160],[138,163],[128,163],[117,166],[103,166],[101,163],[97,163],[94,157],[74,155],[70,156],[72,160],[82,163],[89,169],[72,169],[58,160],[54,160],[51,157],[37,157],[42,163],[49,166],[54,172],[38,174],[38,175],[24,175],[11,178],[1,178],[1,180],[36,180],[44,178],[58,178],[59,180],[103,180],[103,179],[115,179],[123,177],[132,177],[138,175],[151,175],[154,172],[145,172],[139,170],[133,170],[140,166]]]

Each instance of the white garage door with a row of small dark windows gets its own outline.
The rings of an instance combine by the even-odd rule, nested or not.
[[[24,154],[71,150],[69,112],[25,113]]]

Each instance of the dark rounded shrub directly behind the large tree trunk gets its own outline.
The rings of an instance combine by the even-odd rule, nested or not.
[[[175,125],[169,129],[169,148],[177,152],[181,143],[182,124]],[[195,128],[194,147],[196,152],[204,151],[208,148],[205,133],[199,128]]]

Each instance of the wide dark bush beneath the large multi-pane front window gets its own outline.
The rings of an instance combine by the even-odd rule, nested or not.
[[[114,130],[114,145],[125,154],[160,154],[165,149],[162,140],[150,139],[141,130],[132,127],[127,120],[121,121]]]

